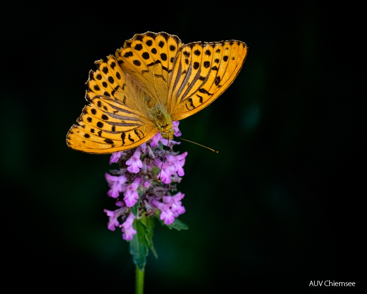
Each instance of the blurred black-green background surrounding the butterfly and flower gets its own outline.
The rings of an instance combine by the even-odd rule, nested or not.
[[[178,148],[189,230],[157,223],[145,292],[364,286],[362,8],[199,3],[3,4],[1,265],[5,281],[23,281],[13,289],[134,292],[129,245],[103,213],[114,209],[109,155],[69,149],[65,136],[93,62],[146,31],[241,40],[249,54],[218,100],[181,121],[184,138],[220,152]]]

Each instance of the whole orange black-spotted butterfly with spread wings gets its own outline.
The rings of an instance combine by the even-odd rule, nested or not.
[[[69,147],[113,153],[138,147],[157,132],[173,139],[172,121],[212,103],[246,59],[245,43],[183,44],[165,32],[136,34],[89,72],[86,100],[67,136]]]

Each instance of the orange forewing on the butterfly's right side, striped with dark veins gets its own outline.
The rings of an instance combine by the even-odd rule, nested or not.
[[[173,120],[203,109],[233,82],[247,55],[240,41],[190,43],[177,54],[168,101]]]

